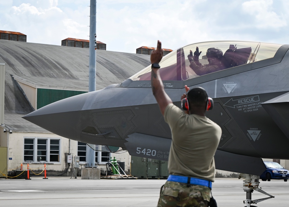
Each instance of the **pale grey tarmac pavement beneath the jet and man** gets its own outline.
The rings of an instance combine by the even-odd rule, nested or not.
[[[156,206],[165,179],[82,180],[70,177],[0,179],[0,206]],[[289,206],[289,182],[260,181],[275,198],[252,206]],[[246,206],[242,179],[216,178],[212,189],[219,207]],[[252,199],[268,197],[254,191]]]

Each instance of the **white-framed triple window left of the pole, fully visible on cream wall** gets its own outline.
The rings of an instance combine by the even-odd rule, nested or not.
[[[60,139],[24,137],[25,162],[60,162]]]

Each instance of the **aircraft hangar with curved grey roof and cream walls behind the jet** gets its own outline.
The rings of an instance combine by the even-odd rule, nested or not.
[[[96,90],[121,83],[150,64],[149,55],[106,50],[97,50],[96,59]],[[52,134],[21,117],[54,101],[88,92],[88,64],[88,48],[0,38],[0,149],[8,151],[4,170],[19,170],[21,163],[25,170],[29,163],[31,169],[41,172],[46,163],[50,175],[69,172],[73,168],[67,164],[68,154],[80,156],[81,166],[85,165],[85,144]],[[96,152],[97,166],[106,169],[110,156],[124,162],[129,172],[127,152]]]

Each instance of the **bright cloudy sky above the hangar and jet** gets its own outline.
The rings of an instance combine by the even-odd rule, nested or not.
[[[0,30],[27,42],[61,45],[89,40],[89,0],[0,0]],[[135,53],[141,46],[175,50],[216,40],[288,44],[288,0],[98,0],[97,41],[106,50]]]

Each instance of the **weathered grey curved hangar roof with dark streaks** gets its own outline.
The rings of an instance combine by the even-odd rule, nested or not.
[[[17,81],[36,88],[88,91],[89,49],[0,40],[5,63],[5,124],[15,132],[48,132],[21,117],[32,112]],[[96,89],[121,83],[150,64],[150,56],[97,50]]]

